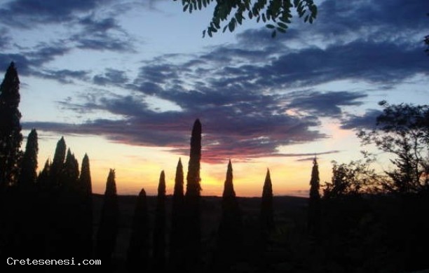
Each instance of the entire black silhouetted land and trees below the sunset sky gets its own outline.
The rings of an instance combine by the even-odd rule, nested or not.
[[[315,157],[308,167],[309,198],[273,195],[269,169],[261,179],[261,197],[238,197],[231,160],[222,197],[201,197],[202,125],[196,119],[186,184],[179,159],[171,196],[165,195],[162,171],[156,197],[147,196],[144,188],[137,197],[125,197],[118,196],[114,169],[107,174],[104,195],[94,195],[88,155],[79,169],[63,137],[53,160],[46,160],[37,173],[35,129],[25,151],[20,151],[19,102],[18,72],[11,63],[0,86],[3,265],[11,257],[100,259],[105,272],[429,268],[429,160],[423,153],[429,143],[428,106],[381,103],[385,108],[377,120],[381,129],[360,132],[360,137],[397,155],[391,160],[395,169],[376,174],[369,168],[371,155],[365,153],[365,162],[334,162],[332,181],[320,185]],[[51,265],[39,268],[58,270]]]

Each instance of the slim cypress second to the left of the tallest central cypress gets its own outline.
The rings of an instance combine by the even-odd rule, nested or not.
[[[156,214],[153,244],[154,271],[165,269],[165,174],[161,172],[156,197]]]

